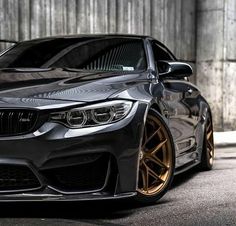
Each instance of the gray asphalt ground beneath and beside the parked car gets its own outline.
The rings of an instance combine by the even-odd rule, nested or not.
[[[155,205],[129,202],[1,204],[1,225],[236,225],[236,147],[218,148],[212,171],[175,178]]]

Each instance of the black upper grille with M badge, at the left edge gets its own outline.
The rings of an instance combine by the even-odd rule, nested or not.
[[[26,109],[0,109],[0,136],[14,136],[32,131],[38,113]]]

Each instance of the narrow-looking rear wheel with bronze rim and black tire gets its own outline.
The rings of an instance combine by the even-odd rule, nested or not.
[[[214,138],[212,119],[208,115],[206,118],[206,125],[204,129],[204,139],[202,145],[202,156],[199,168],[201,171],[211,170],[214,160]]]

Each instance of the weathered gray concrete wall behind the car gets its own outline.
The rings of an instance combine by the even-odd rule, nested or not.
[[[235,15],[235,0],[0,0],[0,39],[80,33],[151,35],[191,63],[192,81],[212,106],[215,128],[231,130],[236,128],[236,97],[228,97],[224,89],[232,94],[236,87]],[[234,40],[230,46],[228,36]]]

